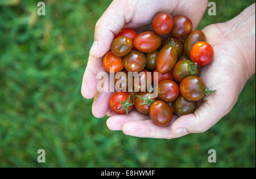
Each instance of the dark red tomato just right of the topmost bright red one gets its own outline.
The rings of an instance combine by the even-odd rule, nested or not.
[[[184,37],[192,30],[192,22],[185,15],[177,15],[174,17],[174,27],[172,27],[171,35],[174,37]]]

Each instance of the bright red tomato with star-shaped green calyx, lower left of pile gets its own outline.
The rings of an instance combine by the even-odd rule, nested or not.
[[[125,109],[118,111],[122,107],[122,103],[120,103],[119,101],[125,102],[128,99],[128,97],[129,93],[127,92],[114,92],[109,99],[110,109],[112,109],[117,114],[126,114]],[[129,103],[133,103],[133,98],[130,97]],[[130,105],[128,107],[128,112],[130,112],[132,108],[133,105]]]

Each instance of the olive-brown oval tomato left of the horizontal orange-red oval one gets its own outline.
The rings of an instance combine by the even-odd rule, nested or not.
[[[133,48],[133,41],[127,37],[117,37],[112,42],[111,52],[118,57],[126,56]]]

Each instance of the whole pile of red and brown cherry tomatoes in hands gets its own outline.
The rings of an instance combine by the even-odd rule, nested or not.
[[[195,112],[196,101],[216,91],[208,90],[199,77],[200,67],[212,62],[214,51],[206,42],[204,32],[192,31],[192,22],[185,15],[172,18],[167,12],[160,12],[152,27],[154,31],[139,34],[130,28],[122,29],[115,35],[103,65],[109,72],[111,67],[114,73],[124,72],[121,78],[126,79],[126,91],[129,72],[143,71],[141,80],[146,79],[147,72],[158,73],[156,98],[151,90],[143,92],[146,88],[139,80],[133,83],[139,92],[116,91],[110,97],[109,106],[118,114],[128,115],[136,109],[150,114],[156,125],[166,126],[174,113],[182,116]],[[118,80],[115,79],[115,84]]]

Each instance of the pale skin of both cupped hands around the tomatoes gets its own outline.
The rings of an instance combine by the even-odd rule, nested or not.
[[[217,92],[205,96],[202,105],[193,114],[174,116],[169,126],[154,124],[147,115],[136,111],[129,117],[116,115],[109,109],[111,92],[97,92],[97,73],[105,71],[102,57],[123,27],[140,28],[152,22],[158,12],[173,16],[187,15],[196,29],[207,8],[206,0],[134,0],[113,1],[96,23],[94,44],[82,79],[81,93],[86,99],[94,97],[92,113],[106,122],[110,130],[122,130],[126,135],[143,138],[172,139],[190,133],[203,133],[221,120],[236,104],[246,81],[255,73],[255,3],[240,15],[225,23],[212,24],[203,29],[213,46],[214,59],[200,71],[210,89]]]

